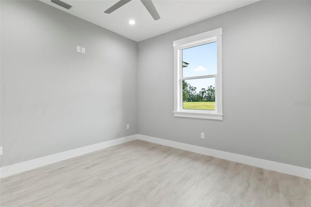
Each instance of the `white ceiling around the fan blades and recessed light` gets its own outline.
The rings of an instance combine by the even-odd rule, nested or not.
[[[119,0],[62,0],[72,6],[69,10],[51,0],[40,1],[139,42],[259,0],[153,0],[161,17],[156,21],[140,0],[132,0],[111,14],[104,11]],[[128,24],[130,19],[136,24]]]

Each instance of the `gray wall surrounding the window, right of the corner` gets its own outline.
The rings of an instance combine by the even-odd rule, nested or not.
[[[310,16],[311,1],[260,1],[139,42],[138,133],[311,168]],[[173,40],[219,27],[224,120],[174,118]]]

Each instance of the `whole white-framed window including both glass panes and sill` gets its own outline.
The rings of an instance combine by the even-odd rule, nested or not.
[[[174,116],[223,119],[222,28],[175,40]]]

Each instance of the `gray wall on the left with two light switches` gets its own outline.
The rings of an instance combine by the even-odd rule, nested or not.
[[[1,167],[137,134],[137,55],[42,2],[1,0]]]

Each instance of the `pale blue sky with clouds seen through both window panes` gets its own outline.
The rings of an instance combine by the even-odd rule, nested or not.
[[[212,42],[183,50],[183,62],[189,63],[183,68],[183,77],[210,75],[217,73],[217,43]],[[186,80],[191,86],[201,88],[215,86],[215,78]]]

